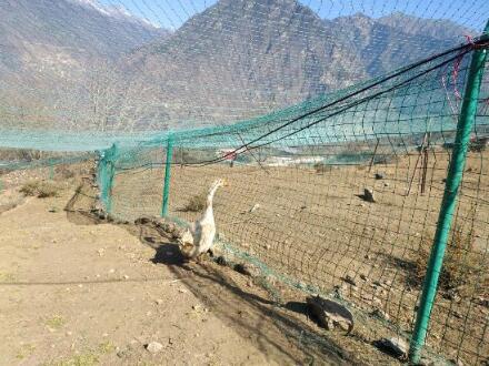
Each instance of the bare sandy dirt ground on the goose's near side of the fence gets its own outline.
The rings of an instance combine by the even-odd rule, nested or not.
[[[16,202],[0,213],[1,365],[396,363],[277,307],[244,275],[211,262],[182,265],[150,228],[66,212],[73,187],[42,200],[18,187],[0,195]],[[366,350],[352,355],[342,339]],[[151,342],[162,350],[151,354]]]

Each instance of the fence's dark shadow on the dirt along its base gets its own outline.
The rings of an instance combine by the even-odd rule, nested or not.
[[[82,184],[67,204],[68,220],[79,225],[107,223],[93,214],[96,195]],[[270,360],[300,365],[355,365],[355,357],[308,321],[306,306],[281,306],[270,294],[230,267],[211,261],[187,263],[177,244],[150,225],[124,224],[130,234],[154,250],[153,263],[168,265],[211,312],[241,337],[252,340]],[[243,289],[246,288],[246,289]]]

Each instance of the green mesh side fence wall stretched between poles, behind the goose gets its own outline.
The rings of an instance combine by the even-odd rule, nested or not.
[[[199,218],[194,203],[226,177],[217,245],[293,287],[336,294],[377,319],[375,335],[409,340],[470,60],[485,48],[456,48],[259,119],[172,132],[168,215]],[[488,98],[486,72],[426,339],[427,352],[473,365],[489,354]],[[160,215],[168,136],[106,151],[99,179],[112,215]]]

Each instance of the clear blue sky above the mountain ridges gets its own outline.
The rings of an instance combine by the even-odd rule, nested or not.
[[[131,13],[168,29],[177,29],[216,0],[99,0],[122,6]],[[240,0],[236,0],[240,1]],[[332,19],[362,12],[378,18],[396,11],[428,19],[450,19],[482,31],[489,18],[489,0],[300,0],[321,18]]]

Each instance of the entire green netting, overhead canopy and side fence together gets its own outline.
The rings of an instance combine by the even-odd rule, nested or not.
[[[42,19],[49,2],[19,1],[20,8],[32,3]],[[341,298],[363,316],[368,329],[359,338],[367,343],[395,335],[410,340],[470,60],[487,41],[447,48],[477,33],[487,3],[443,2],[431,13],[415,2],[406,9],[369,3],[369,18],[352,16],[366,10],[357,3],[332,1],[336,12],[320,20],[322,1],[313,12],[296,1],[223,0],[201,14],[203,9],[187,13],[190,20],[172,24],[179,30],[168,39],[146,24],[151,34],[140,42],[126,37],[133,32],[122,32],[120,42],[104,39],[110,32],[92,19],[93,11],[102,17],[108,9],[98,6],[78,4],[78,18],[87,11],[91,17],[83,18],[90,27],[76,31],[62,14],[59,24],[48,17],[52,44],[28,17],[26,34],[39,32],[40,40],[20,34],[27,52],[0,55],[0,146],[73,153],[9,160],[0,170],[78,162],[91,156],[82,153],[97,152],[106,211],[132,221],[166,213],[166,201],[168,215],[183,224],[200,215],[192,202],[214,179],[227,177],[230,186],[216,199],[217,245],[263,276]],[[390,14],[399,9],[423,18]],[[10,14],[6,31],[17,29]],[[439,27],[435,16],[463,27]],[[360,29],[369,29],[371,39],[348,22],[367,24]],[[82,29],[94,34],[79,34]],[[39,52],[38,41],[53,48]],[[17,49],[10,38],[6,43]],[[73,43],[70,62],[50,69],[44,55]],[[436,51],[441,53],[412,63]],[[488,78],[486,72],[426,347],[473,365],[487,363],[489,354]],[[279,296],[297,299],[287,291]]]

